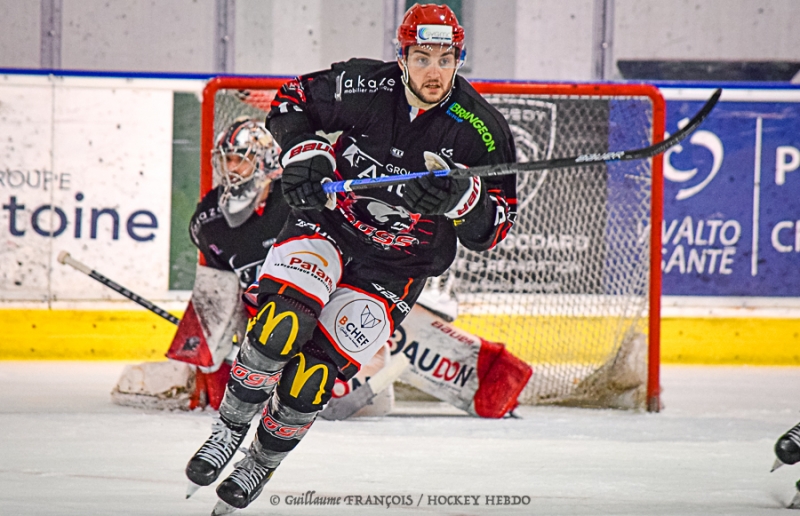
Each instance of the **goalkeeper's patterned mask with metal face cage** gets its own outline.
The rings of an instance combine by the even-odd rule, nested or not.
[[[211,161],[222,186],[218,204],[228,226],[241,226],[258,208],[264,189],[282,172],[279,155],[264,124],[251,119],[237,119],[217,136]]]

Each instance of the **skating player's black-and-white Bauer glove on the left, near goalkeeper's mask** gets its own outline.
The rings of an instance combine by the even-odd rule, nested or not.
[[[331,181],[336,169],[333,147],[317,135],[303,135],[281,154],[283,196],[299,210],[332,210],[336,195],[326,194],[322,183]]]

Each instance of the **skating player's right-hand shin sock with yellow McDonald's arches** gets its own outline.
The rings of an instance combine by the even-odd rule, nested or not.
[[[257,435],[267,467],[277,467],[300,443],[331,397],[337,368],[313,345],[308,348],[286,364],[264,407]]]

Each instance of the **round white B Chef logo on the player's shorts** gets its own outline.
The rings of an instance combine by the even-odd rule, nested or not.
[[[336,314],[336,340],[351,353],[362,351],[376,342],[385,327],[383,306],[369,299],[350,301]]]

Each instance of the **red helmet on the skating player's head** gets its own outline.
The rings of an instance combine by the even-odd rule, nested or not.
[[[402,59],[412,45],[446,45],[457,48],[464,59],[464,28],[446,5],[414,4],[397,28],[397,57]]]

